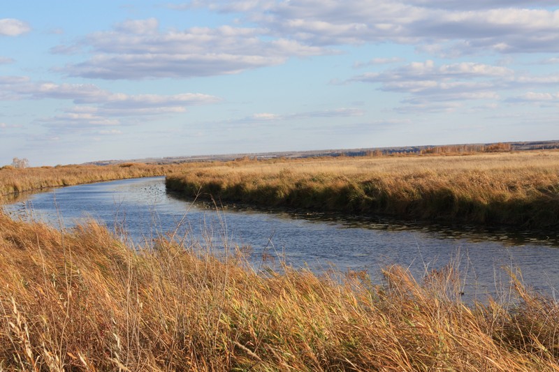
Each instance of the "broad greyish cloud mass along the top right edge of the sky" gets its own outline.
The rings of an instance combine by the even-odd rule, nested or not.
[[[559,51],[559,10],[551,0],[208,0],[191,6],[242,12],[271,34],[315,46],[424,43],[448,47],[448,55]]]

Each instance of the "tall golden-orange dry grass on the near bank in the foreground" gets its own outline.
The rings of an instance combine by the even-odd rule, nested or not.
[[[559,369],[559,306],[518,282],[514,302],[466,306],[451,266],[419,283],[389,267],[376,286],[256,274],[216,252],[134,250],[94,223],[59,232],[0,215],[1,369]]]

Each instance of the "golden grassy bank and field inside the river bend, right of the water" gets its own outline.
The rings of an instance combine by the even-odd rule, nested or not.
[[[185,165],[169,189],[266,207],[559,226],[559,152]]]

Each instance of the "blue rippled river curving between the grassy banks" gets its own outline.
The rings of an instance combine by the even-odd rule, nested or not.
[[[268,253],[275,258],[266,259],[268,266],[284,258],[293,267],[315,271],[367,270],[375,281],[388,265],[409,267],[421,279],[426,271],[458,260],[470,299],[507,292],[506,269],[511,267],[539,292],[554,296],[559,288],[556,235],[235,206],[216,209],[166,193],[163,177],[57,188],[7,204],[4,210],[57,228],[94,218],[136,244],[174,234],[187,244],[211,244],[218,251],[250,246],[253,265],[261,265]]]

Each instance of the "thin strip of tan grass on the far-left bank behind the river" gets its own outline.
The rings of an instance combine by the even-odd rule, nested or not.
[[[124,163],[120,165],[59,165],[41,168],[0,168],[0,196],[40,190],[56,186],[89,184],[113,179],[163,176],[172,173],[178,165],[147,165]]]

